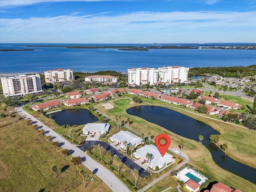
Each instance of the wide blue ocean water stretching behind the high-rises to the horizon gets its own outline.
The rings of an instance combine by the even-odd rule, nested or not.
[[[71,68],[74,71],[81,72],[98,72],[101,70],[127,72],[128,68],[133,67],[158,68],[162,66],[184,66],[193,68],[207,66],[249,66],[256,64],[256,50],[152,49],[149,51],[120,51],[112,48],[83,49],[25,47],[22,45],[29,44],[0,44],[0,49],[34,49],[34,51],[0,52],[0,73],[43,73],[45,70],[58,68]],[[148,46],[150,44],[111,45]],[[214,46],[215,44],[212,45]]]

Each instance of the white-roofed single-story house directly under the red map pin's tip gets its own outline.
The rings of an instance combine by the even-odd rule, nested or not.
[[[151,162],[148,162],[146,158],[147,153],[153,155]],[[158,168],[161,169],[167,164],[171,163],[173,160],[173,156],[168,153],[166,153],[162,157],[158,148],[154,145],[145,145],[142,148],[139,148],[138,150],[136,150],[136,152],[133,153],[133,156],[137,159],[142,158],[142,160],[145,160],[146,162],[150,163],[150,168],[152,168],[153,170],[156,170],[156,166],[158,166]]]

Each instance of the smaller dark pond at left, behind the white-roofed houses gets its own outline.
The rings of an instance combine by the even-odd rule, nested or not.
[[[46,116],[49,118],[49,115]],[[62,110],[52,113],[52,119],[60,126],[67,124],[70,126],[82,125],[98,121],[98,118],[87,109]]]

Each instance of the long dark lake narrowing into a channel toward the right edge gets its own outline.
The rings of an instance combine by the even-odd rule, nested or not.
[[[199,135],[204,136],[202,144],[211,152],[212,158],[218,166],[256,184],[256,169],[233,160],[211,143],[210,135],[220,133],[207,124],[159,106],[136,106],[129,108],[126,112],[192,140],[198,141]],[[178,146],[172,146],[172,148],[178,148]]]

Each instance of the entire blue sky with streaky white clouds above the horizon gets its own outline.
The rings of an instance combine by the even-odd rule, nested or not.
[[[0,42],[256,42],[256,0],[0,0]]]

